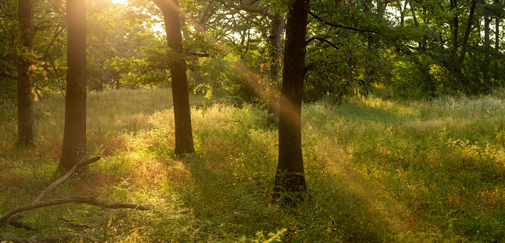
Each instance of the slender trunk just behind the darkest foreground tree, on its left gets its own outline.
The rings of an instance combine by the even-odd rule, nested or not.
[[[267,125],[274,123],[274,118],[278,116],[278,87],[280,86],[279,73],[281,71],[281,55],[282,55],[282,39],[281,35],[284,31],[284,18],[280,13],[275,13],[271,16],[271,29],[269,42],[271,50],[270,68],[269,68],[269,109],[267,115]]]

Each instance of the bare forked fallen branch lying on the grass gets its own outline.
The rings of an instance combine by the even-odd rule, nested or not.
[[[70,171],[68,171],[63,177],[60,179],[56,180],[56,182],[51,183],[48,187],[46,187],[45,190],[39,195],[36,200],[31,202],[29,205],[25,205],[23,207],[18,207],[14,210],[11,210],[9,212],[6,212],[4,215],[0,217],[0,228],[5,227],[6,224],[11,224],[14,227],[22,227],[24,229],[31,229],[33,228],[29,227],[27,224],[18,222],[16,220],[20,219],[21,217],[24,217],[26,212],[30,210],[34,210],[37,208],[41,207],[48,207],[48,206],[53,206],[53,205],[61,205],[61,204],[66,204],[66,203],[85,203],[88,205],[94,205],[97,207],[105,207],[105,208],[111,208],[111,209],[118,209],[118,208],[129,208],[129,209],[135,209],[135,210],[150,210],[148,207],[143,207],[143,206],[138,206],[138,205],[133,205],[133,204],[125,204],[125,203],[119,203],[119,202],[103,202],[101,200],[96,199],[95,197],[83,197],[83,196],[73,196],[73,197],[66,197],[66,198],[58,198],[58,199],[53,199],[53,200],[44,200],[44,198],[48,195],[51,190],[53,190],[56,186],[60,185],[61,183],[65,182],[68,180],[79,168],[85,167],[86,165],[90,165],[93,162],[96,162],[100,160],[100,157],[93,157],[88,159],[88,157],[84,157],[76,166],[74,166]],[[2,237],[2,236],[0,236]],[[1,239],[1,238],[0,238]],[[3,241],[0,241],[3,242]]]

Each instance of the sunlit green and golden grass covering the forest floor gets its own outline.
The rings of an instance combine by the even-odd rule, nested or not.
[[[51,197],[93,195],[154,212],[62,205],[0,234],[81,234],[98,242],[504,242],[505,92],[303,105],[312,200],[271,204],[277,133],[266,113],[191,96],[196,152],[174,156],[169,91],[88,94],[90,175]],[[63,99],[36,103],[35,148],[0,118],[0,214],[33,200],[56,170]],[[69,224],[58,217],[73,219]]]

